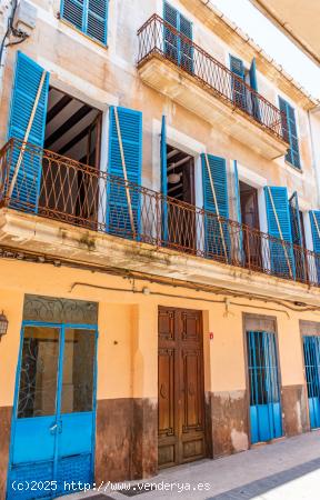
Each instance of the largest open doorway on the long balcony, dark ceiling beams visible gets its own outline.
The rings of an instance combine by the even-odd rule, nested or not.
[[[98,222],[102,112],[49,88],[39,210],[90,229]],[[74,160],[74,161],[72,161]]]

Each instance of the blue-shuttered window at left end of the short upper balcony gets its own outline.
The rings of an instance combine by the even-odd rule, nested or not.
[[[189,40],[192,40],[192,23],[168,2],[164,2],[163,4],[163,18],[164,21],[171,24],[177,31],[182,33]],[[192,46],[188,42],[188,40],[179,37],[166,27],[164,53],[169,59],[173,60],[184,70],[189,72],[193,71]]]

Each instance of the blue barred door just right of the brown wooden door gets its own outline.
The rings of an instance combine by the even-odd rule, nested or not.
[[[274,333],[247,331],[251,443],[282,436]]]

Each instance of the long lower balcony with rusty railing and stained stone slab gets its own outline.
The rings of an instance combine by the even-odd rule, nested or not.
[[[7,248],[198,282],[207,273],[211,284],[224,280],[226,286],[229,273],[234,286],[237,269],[239,276],[249,270],[256,281],[257,273],[288,280],[288,294],[300,300],[309,292],[294,292],[292,281],[320,286],[318,253],[16,139],[0,151],[0,240]],[[261,291],[264,284],[256,281],[251,290]]]

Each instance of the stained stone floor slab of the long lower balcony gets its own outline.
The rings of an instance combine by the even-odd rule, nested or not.
[[[189,256],[170,249],[88,231],[34,214],[0,210],[0,246],[46,253],[57,260],[117,268],[234,292],[320,306],[320,289]]]

